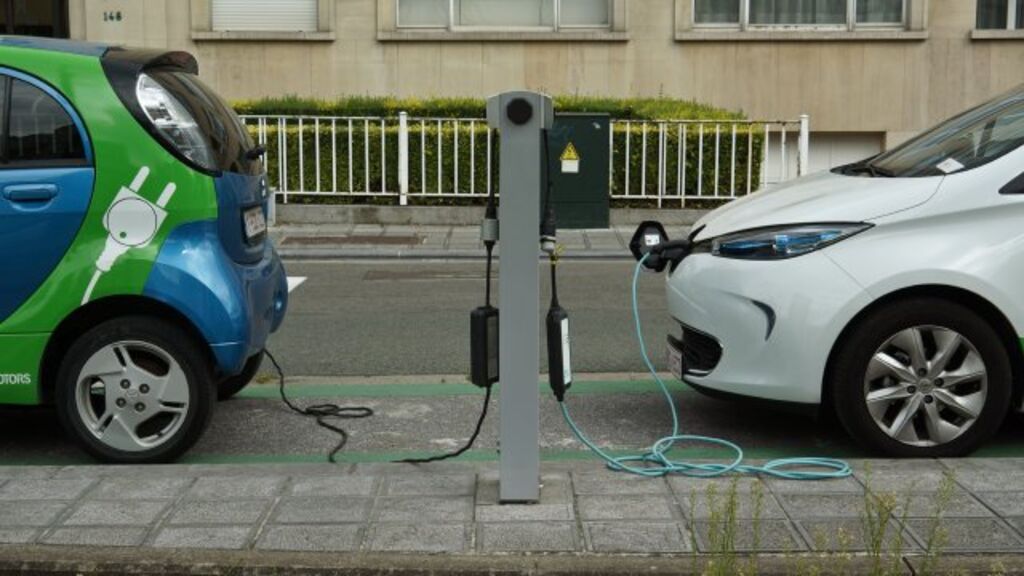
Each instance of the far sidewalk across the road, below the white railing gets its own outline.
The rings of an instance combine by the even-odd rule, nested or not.
[[[559,231],[565,258],[631,258],[635,227]],[[670,233],[682,235],[683,229]],[[482,258],[479,227],[304,224],[270,230],[282,257],[334,258]],[[497,251],[496,251],[497,254]],[[540,248],[538,249],[540,255]]]

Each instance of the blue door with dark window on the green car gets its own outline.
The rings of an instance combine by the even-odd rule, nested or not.
[[[68,252],[94,179],[74,108],[38,78],[0,68],[0,331]]]

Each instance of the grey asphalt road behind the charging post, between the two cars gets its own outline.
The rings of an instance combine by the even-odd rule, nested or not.
[[[469,314],[483,303],[482,262],[288,262],[287,270],[307,278],[269,344],[289,374],[469,373]],[[542,272],[543,316],[546,264]],[[630,304],[632,275],[626,260],[559,264],[558,295],[572,322],[577,371],[644,371]],[[664,276],[641,278],[640,303],[651,354],[660,359],[673,330]]]

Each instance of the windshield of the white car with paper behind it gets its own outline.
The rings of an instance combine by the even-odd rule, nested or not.
[[[1024,145],[1024,85],[954,116],[862,166],[872,174],[951,174],[995,160]]]

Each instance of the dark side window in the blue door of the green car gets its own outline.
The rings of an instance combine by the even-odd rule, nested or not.
[[[0,77],[2,78],[2,77]],[[52,96],[16,78],[6,78],[7,114],[4,167],[62,165],[85,162],[82,134],[68,112]]]

